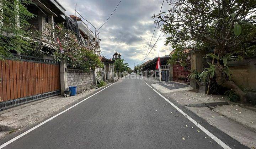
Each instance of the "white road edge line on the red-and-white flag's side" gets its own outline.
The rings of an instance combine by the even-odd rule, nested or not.
[[[141,78],[140,78],[141,79]],[[146,83],[143,79],[141,79],[144,83]],[[146,83],[151,89],[153,89],[158,95],[160,95],[162,98],[164,98],[169,104],[171,104],[176,110],[178,110],[182,115],[187,117],[188,120],[190,120],[194,125],[196,125],[199,129],[201,129],[204,133],[206,133],[210,138],[212,138],[215,142],[217,142],[221,147],[224,149],[231,149],[228,145],[226,145],[222,140],[214,136],[214,134],[210,133],[206,128],[204,128],[202,125],[198,124],[193,118],[188,116],[185,112],[183,112],[180,108],[178,108],[175,104],[173,104],[170,100],[165,98],[163,95],[161,95],[158,91],[156,91],[154,88],[152,88],[148,83]]]

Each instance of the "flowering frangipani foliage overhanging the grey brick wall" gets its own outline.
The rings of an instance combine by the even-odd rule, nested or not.
[[[42,48],[43,44],[49,47],[47,50],[42,50],[42,53],[52,55],[57,61],[67,59],[71,66],[83,68],[85,71],[103,67],[94,51],[79,43],[76,35],[64,28],[63,24],[55,24],[54,27],[48,24],[42,32],[32,30],[31,33],[39,48]]]

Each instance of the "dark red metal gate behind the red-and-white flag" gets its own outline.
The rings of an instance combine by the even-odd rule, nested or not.
[[[173,65],[174,81],[190,84],[190,81],[188,80],[189,74],[190,74],[190,71],[188,71],[185,67],[179,64]]]

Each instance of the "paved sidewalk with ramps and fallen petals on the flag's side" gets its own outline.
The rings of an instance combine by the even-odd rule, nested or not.
[[[147,83],[155,82],[152,78],[141,78]],[[151,86],[247,147],[256,148],[256,107],[230,102],[223,95],[197,93],[186,85],[174,84],[155,82]]]

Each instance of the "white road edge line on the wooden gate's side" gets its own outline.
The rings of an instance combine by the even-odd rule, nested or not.
[[[129,76],[129,75],[128,75],[128,76]],[[126,77],[128,77],[128,76],[126,76]],[[124,77],[124,78],[126,78],[126,77]],[[122,78],[122,79],[124,79],[124,78]],[[120,80],[122,80],[122,79],[120,79]],[[115,83],[116,83],[116,82],[115,82]],[[113,84],[115,84],[115,83],[113,83]],[[111,84],[111,85],[113,85],[113,84]],[[109,85],[108,87],[110,87],[111,85]],[[106,87],[106,88],[108,88],[108,87]],[[106,88],[103,88],[102,90],[104,90],[104,89],[106,89]],[[4,148],[6,145],[8,145],[8,144],[14,142],[15,140],[21,138],[22,136],[26,135],[27,133],[30,133],[30,132],[33,131],[34,129],[36,129],[36,128],[42,126],[42,125],[44,125],[45,123],[49,122],[49,121],[52,120],[53,118],[55,118],[55,117],[57,117],[57,116],[63,114],[64,112],[66,112],[66,111],[72,109],[73,107],[75,107],[75,106],[81,104],[81,103],[84,102],[85,100],[87,100],[87,99],[91,98],[92,96],[94,96],[94,95],[100,93],[102,90],[100,90],[100,91],[98,91],[97,93],[95,93],[95,94],[93,94],[93,95],[91,95],[91,96],[85,98],[84,100],[82,100],[82,101],[80,101],[79,103],[77,103],[77,104],[75,104],[75,105],[69,107],[68,109],[66,109],[66,110],[64,110],[64,111],[62,111],[62,112],[60,112],[60,113],[54,115],[53,117],[50,117],[50,118],[47,119],[46,121],[43,121],[42,123],[39,123],[37,126],[34,126],[34,127],[32,127],[31,129],[28,129],[27,131],[23,132],[22,134],[18,135],[17,137],[15,137],[15,138],[13,138],[13,139],[11,139],[11,140],[9,140],[9,141],[7,141],[6,143],[0,145],[0,149]]]

